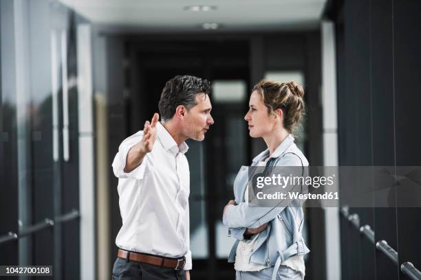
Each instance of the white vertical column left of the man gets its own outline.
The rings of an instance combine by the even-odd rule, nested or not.
[[[96,279],[94,121],[91,30],[78,24],[80,279]]]

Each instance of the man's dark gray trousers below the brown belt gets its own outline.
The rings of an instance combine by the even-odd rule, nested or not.
[[[184,280],[184,270],[174,270],[141,264],[117,258],[113,267],[113,280]]]

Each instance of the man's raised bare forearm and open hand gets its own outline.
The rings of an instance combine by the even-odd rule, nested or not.
[[[142,163],[144,156],[148,152],[151,152],[153,144],[156,140],[156,123],[158,122],[160,115],[155,113],[152,117],[151,123],[146,121],[144,123],[143,137],[136,145],[133,145],[129,150],[126,158],[126,166],[124,169],[125,173],[129,173],[136,169]]]

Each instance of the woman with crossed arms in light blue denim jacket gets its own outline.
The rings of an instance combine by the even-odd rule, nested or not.
[[[253,159],[252,166],[308,166],[292,137],[305,111],[303,95],[296,82],[261,80],[254,87],[244,119],[250,137],[262,137],[268,149]],[[303,256],[310,250],[301,236],[302,201],[289,201],[286,207],[248,207],[247,167],[237,174],[234,194],[235,200],[224,207],[223,221],[237,239],[228,258],[235,262],[237,279],[303,279]]]

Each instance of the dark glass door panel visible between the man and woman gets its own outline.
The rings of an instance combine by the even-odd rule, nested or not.
[[[244,80],[215,81],[213,86],[213,102],[215,108],[214,129],[218,129],[218,148],[222,154],[218,156],[220,162],[218,174],[222,176],[217,181],[220,185],[215,187],[219,194],[217,213],[233,199],[233,183],[241,165],[246,164],[246,137],[247,128],[245,115],[245,102],[247,86]],[[220,140],[220,141],[219,141]],[[215,222],[215,254],[217,259],[226,259],[235,242],[233,237],[228,237],[228,229],[222,224],[222,217],[217,217]]]

